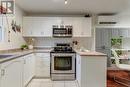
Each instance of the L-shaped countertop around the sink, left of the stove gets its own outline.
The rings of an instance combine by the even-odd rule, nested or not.
[[[6,61],[12,60],[12,59],[16,59],[31,53],[48,53],[50,52],[52,49],[34,49],[34,50],[18,50],[17,52],[0,52],[0,55],[12,55],[10,57],[6,57],[6,58],[0,58],[0,63],[4,63]]]

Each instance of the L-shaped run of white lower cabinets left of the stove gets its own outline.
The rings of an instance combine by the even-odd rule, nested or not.
[[[0,87],[26,87],[34,76],[50,77],[50,53],[28,54],[0,64]]]

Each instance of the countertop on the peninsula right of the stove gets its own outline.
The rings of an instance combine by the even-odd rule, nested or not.
[[[106,54],[96,52],[96,51],[79,51],[76,50],[76,53],[79,54],[80,56],[107,56]]]

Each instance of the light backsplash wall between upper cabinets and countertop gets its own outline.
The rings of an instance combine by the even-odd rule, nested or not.
[[[78,41],[78,47],[84,47],[88,50],[93,50],[93,38],[78,37],[78,38],[34,38],[34,46],[54,47],[56,43],[71,43]]]

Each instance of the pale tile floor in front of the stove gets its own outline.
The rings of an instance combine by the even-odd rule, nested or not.
[[[27,87],[78,87],[76,81],[51,81],[50,79],[33,79]]]

